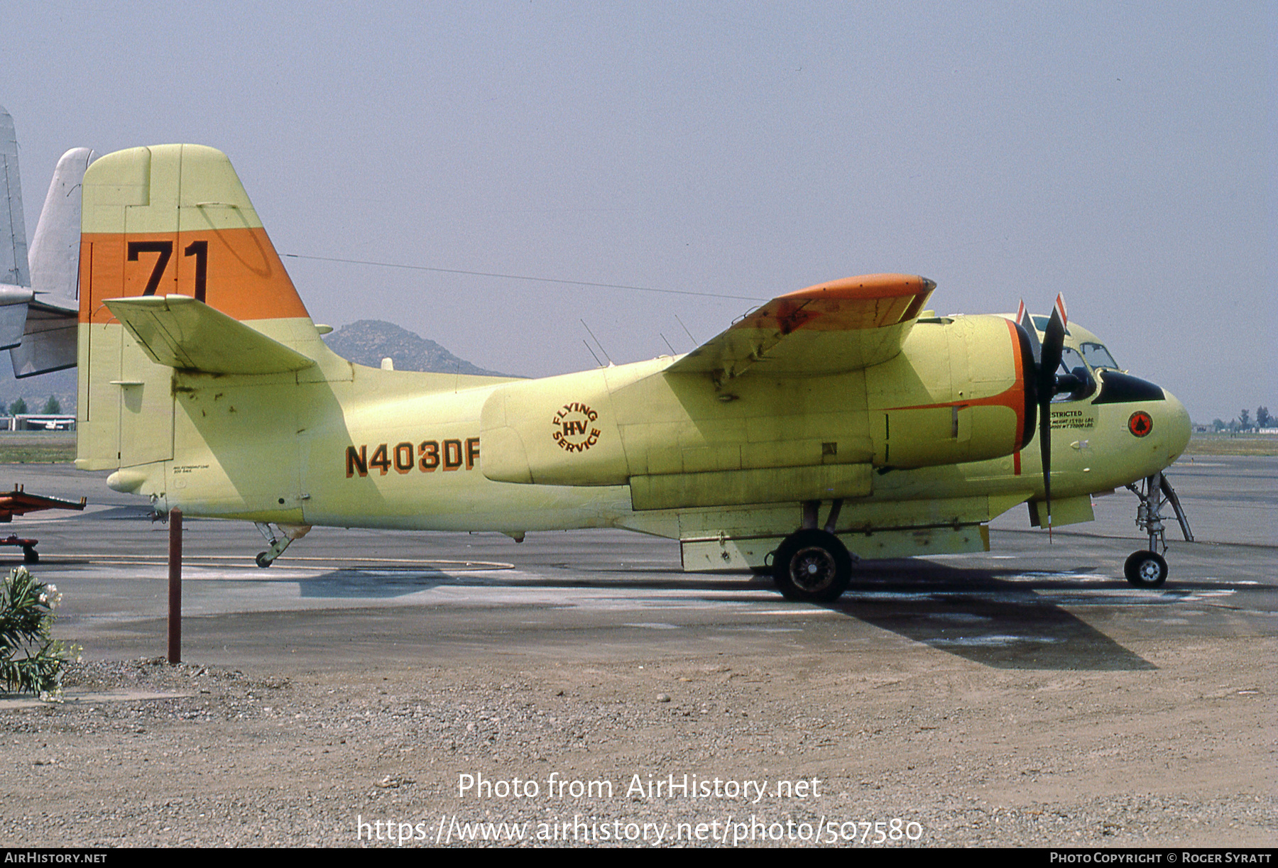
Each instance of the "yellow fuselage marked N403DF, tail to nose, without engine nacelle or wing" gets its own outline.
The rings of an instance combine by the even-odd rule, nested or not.
[[[911,352],[907,341],[904,354],[909,358]],[[676,358],[611,372],[613,380],[659,377]],[[112,484],[152,496],[157,509],[176,506],[188,515],[334,527],[511,534],[631,527],[679,538],[690,514],[723,513],[722,508],[636,513],[625,484],[489,479],[481,437],[483,408],[495,390],[519,381],[382,371],[336,357],[321,368],[326,376],[312,382],[299,382],[294,375],[174,372],[173,458],[121,468]],[[1058,504],[1160,470],[1189,438],[1189,417],[1171,394],[1151,385],[1132,392],[1117,371],[1089,368],[1089,373],[1099,387],[1052,405],[1052,493]],[[865,394],[863,372],[815,380],[820,382],[805,381],[803,387],[831,403],[852,404],[847,415],[865,438],[863,460],[873,465],[875,451],[881,459],[870,473],[872,491],[845,500],[841,531],[910,527],[928,513],[942,523],[988,522],[1016,504],[1042,500],[1038,433],[997,458],[898,468],[882,460],[884,450],[868,436],[877,410],[864,398],[849,399],[856,390]],[[1121,386],[1111,385],[1120,380]],[[552,419],[539,423],[548,438]],[[792,509],[762,511],[777,513],[776,532],[783,533],[794,523],[786,518]]]

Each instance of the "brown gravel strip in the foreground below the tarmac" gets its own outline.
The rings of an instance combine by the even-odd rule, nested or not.
[[[677,844],[869,845],[874,822],[893,846],[1275,841],[1261,685],[1185,695],[1183,675],[910,660],[866,678],[829,655],[528,666],[77,663],[66,702],[0,711],[6,844],[420,845],[474,822],[529,823],[537,844],[566,821],[584,823],[570,844],[670,844],[686,823]],[[720,796],[648,790],[685,773]],[[463,775],[493,790],[459,793]],[[730,781],[768,784],[728,798]]]

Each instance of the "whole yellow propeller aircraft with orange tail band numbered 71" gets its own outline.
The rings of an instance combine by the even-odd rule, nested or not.
[[[1127,578],[1160,584],[1181,403],[1059,300],[937,317],[934,286],[836,280],[686,355],[543,380],[368,368],[323,344],[222,153],[132,148],[84,176],[75,463],[158,513],[256,522],[261,566],[312,525],[612,527],[809,601],[856,557],[987,551],[1017,504],[1070,524],[1128,486],[1150,550]]]

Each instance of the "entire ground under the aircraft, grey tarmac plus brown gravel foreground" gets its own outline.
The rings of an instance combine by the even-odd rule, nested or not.
[[[161,657],[167,527],[105,474],[6,469],[89,500],[12,525],[64,593],[56,635],[93,661]],[[1122,578],[1144,541],[1120,492],[1051,541],[1020,508],[990,552],[861,562],[826,606],[685,574],[677,545],[624,532],[316,528],[262,570],[250,524],[188,519],[192,665],[101,663],[60,707],[0,699],[0,825],[26,846],[358,845],[372,817],[758,813],[905,818],[925,845],[1272,846],[1278,459],[1171,478],[1197,542],[1168,532],[1162,588]],[[631,775],[685,772],[823,790],[629,795]],[[472,773],[619,789],[514,804],[459,794]]]

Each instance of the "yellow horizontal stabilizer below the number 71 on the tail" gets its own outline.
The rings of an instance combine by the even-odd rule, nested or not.
[[[284,373],[313,359],[189,295],[106,300],[157,364],[204,373]]]

